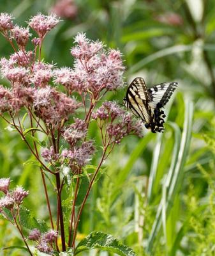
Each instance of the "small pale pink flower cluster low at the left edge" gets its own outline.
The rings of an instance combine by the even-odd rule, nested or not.
[[[13,209],[14,207],[19,207],[22,204],[24,198],[28,195],[22,186],[17,186],[15,189],[10,190],[10,178],[0,179],[0,191],[5,195],[0,198],[0,212],[6,209]]]

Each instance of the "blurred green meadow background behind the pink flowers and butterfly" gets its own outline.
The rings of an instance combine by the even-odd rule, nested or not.
[[[215,2],[1,0],[0,9],[12,13],[20,26],[38,12],[60,15],[63,21],[48,34],[42,52],[59,67],[72,67],[73,36],[84,31],[122,52],[128,83],[137,76],[144,77],[147,86],[179,83],[166,109],[165,133],[126,138],[104,164],[85,205],[78,237],[103,231],[137,255],[215,255]],[[9,56],[10,45],[4,38],[0,42],[1,57]],[[122,101],[125,93],[126,88],[109,93],[108,100]],[[40,172],[23,165],[31,158],[24,142],[4,129],[2,120],[0,125],[0,176],[11,177],[11,186],[29,189],[26,206],[47,220]],[[91,134],[97,136],[94,129]],[[53,191],[53,209],[55,199]],[[0,237],[0,248],[22,244],[4,220]],[[0,255],[25,254],[1,250]]]

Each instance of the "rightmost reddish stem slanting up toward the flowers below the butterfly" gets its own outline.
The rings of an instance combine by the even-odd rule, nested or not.
[[[106,151],[107,151],[107,147],[105,147],[104,150],[103,150],[103,154],[101,156],[100,164],[98,165],[98,167],[96,168],[96,171],[94,172],[93,178],[91,179],[91,182],[89,183],[89,187],[87,189],[87,193],[84,196],[84,200],[82,202],[82,205],[80,206],[80,210],[78,211],[78,216],[77,216],[77,220],[75,221],[75,227],[74,227],[74,232],[73,232],[73,240],[71,242],[71,246],[74,248],[74,250],[75,250],[75,238],[76,238],[76,235],[77,235],[78,222],[80,220],[80,216],[81,216],[82,211],[84,209],[85,202],[87,201],[87,198],[88,198],[89,193],[91,191],[91,188],[93,186],[93,182],[96,179],[96,176],[97,176],[97,174],[98,174],[98,172],[100,170],[101,164],[103,163],[103,159],[105,158]]]

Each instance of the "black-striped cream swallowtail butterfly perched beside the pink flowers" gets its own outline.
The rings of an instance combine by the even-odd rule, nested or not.
[[[147,129],[151,129],[153,133],[163,132],[165,113],[162,108],[167,104],[177,84],[161,83],[147,88],[144,79],[136,77],[128,86],[123,104],[142,119]]]

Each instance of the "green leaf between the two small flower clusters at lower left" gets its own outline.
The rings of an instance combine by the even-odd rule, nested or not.
[[[36,218],[31,215],[30,211],[24,207],[20,208],[20,224],[27,229],[38,228],[41,232],[48,230],[45,221],[36,220]]]

